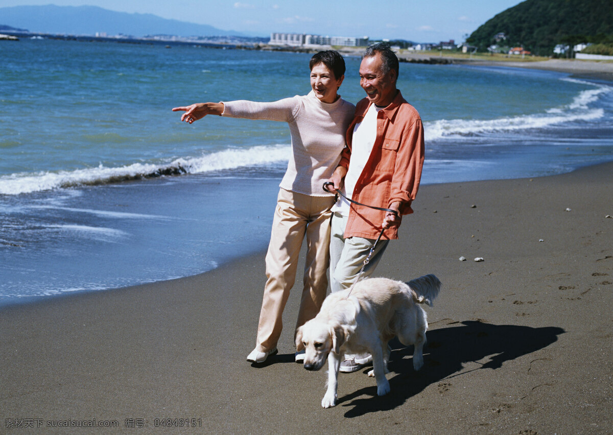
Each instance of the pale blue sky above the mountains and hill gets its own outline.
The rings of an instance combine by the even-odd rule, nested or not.
[[[0,0],[0,7],[56,4],[153,13],[268,36],[271,32],[462,42],[520,0]]]

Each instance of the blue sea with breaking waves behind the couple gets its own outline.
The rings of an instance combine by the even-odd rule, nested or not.
[[[310,55],[26,39],[0,58],[0,303],[185,277],[265,248],[287,125],[188,125],[170,109],[306,94]],[[359,62],[346,58],[340,89],[354,103]],[[400,64],[398,88],[424,121],[422,183],[613,160],[611,83]]]

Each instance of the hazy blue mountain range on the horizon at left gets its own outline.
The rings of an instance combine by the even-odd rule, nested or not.
[[[263,36],[204,24],[167,20],[150,13],[126,13],[97,6],[0,7],[0,25],[32,33],[94,35]]]

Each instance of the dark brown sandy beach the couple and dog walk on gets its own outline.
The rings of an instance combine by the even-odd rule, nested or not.
[[[423,186],[377,275],[443,282],[425,366],[414,372],[411,348],[392,342],[391,393],[376,396],[366,370],[341,374],[332,409],[320,406],[325,372],[293,361],[298,291],[280,353],[245,361],[264,253],[185,279],[2,307],[2,432],[190,419],[194,433],[611,433],[611,198],[613,163]]]

